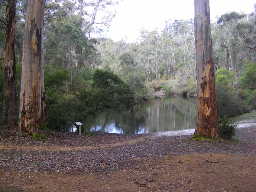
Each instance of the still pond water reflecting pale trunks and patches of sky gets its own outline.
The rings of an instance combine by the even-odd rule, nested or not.
[[[194,98],[165,97],[122,113],[104,112],[83,121],[86,131],[140,134],[194,128],[197,103]]]

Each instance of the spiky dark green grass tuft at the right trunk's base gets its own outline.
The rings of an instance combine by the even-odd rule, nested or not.
[[[224,140],[231,140],[236,136],[235,129],[237,124],[232,123],[229,119],[224,117],[219,123],[218,134],[219,138]]]

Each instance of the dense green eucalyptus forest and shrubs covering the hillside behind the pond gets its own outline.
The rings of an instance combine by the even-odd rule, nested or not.
[[[94,38],[116,17],[118,2],[47,0],[44,8],[45,130],[68,131],[75,121],[99,111],[133,108],[166,95],[196,95],[194,20],[169,19],[162,31],[141,30],[137,42]],[[16,118],[27,1],[16,3]],[[106,15],[101,16],[100,12]],[[0,55],[4,57],[6,1],[0,5]],[[211,23],[213,63],[220,117],[256,108],[255,12],[229,12]],[[3,60],[1,59],[1,65]],[[4,73],[0,74],[1,123],[4,124]]]

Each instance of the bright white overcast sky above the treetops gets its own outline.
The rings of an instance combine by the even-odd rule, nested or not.
[[[210,0],[211,20],[231,11],[251,13],[255,3],[256,0]],[[116,18],[105,33],[106,37],[135,42],[143,27],[149,31],[160,30],[169,19],[193,18],[194,0],[123,0],[115,9]]]

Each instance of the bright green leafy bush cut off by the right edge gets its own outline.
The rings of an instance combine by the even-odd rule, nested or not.
[[[241,86],[249,90],[254,90],[256,89],[256,64],[248,63],[245,66],[246,70],[240,80]]]

